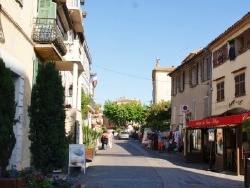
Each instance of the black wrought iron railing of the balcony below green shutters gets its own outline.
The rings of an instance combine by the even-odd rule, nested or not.
[[[53,43],[62,56],[67,53],[67,49],[63,43],[63,36],[56,24],[56,19],[36,18],[33,26],[32,39],[34,42],[40,44]]]

